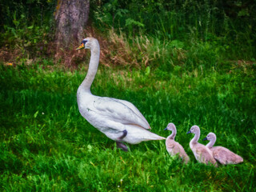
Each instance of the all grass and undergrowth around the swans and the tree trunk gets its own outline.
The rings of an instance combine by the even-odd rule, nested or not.
[[[92,92],[133,102],[156,134],[170,134],[163,129],[174,122],[176,140],[192,160],[183,165],[167,154],[164,141],[118,150],[82,118],[76,90],[88,61],[74,71],[54,66],[50,58],[31,62],[53,49],[52,34],[44,31],[51,29],[47,15],[53,15],[54,2],[47,3],[46,12],[46,3],[35,5],[42,11],[34,18],[44,16],[40,24],[33,16],[26,19],[30,6],[17,4],[17,17],[16,6],[6,14],[0,54],[4,62],[19,64],[0,61],[1,191],[255,191],[254,4],[92,3],[97,30],[86,33],[102,48]],[[240,10],[237,17],[226,14],[233,9]],[[79,65],[83,58],[73,56]],[[214,132],[216,145],[244,162],[218,168],[196,162],[192,135],[186,135],[195,124],[202,132],[199,142]]]

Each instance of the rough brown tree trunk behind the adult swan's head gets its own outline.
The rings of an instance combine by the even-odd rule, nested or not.
[[[84,37],[90,0],[58,0],[55,39],[58,50],[74,50]],[[57,51],[58,51],[57,50]]]

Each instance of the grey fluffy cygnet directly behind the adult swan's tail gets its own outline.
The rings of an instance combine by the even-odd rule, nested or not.
[[[177,130],[174,123],[170,122],[165,130],[170,130],[172,133],[170,136],[166,138],[166,150],[170,154],[170,156],[175,156],[178,154],[179,158],[182,158],[182,160],[187,163],[190,161],[189,156],[186,154],[185,150],[183,149],[182,145],[178,142],[174,141],[174,138],[176,136]]]

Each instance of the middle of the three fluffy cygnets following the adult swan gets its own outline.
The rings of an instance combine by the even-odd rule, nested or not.
[[[193,151],[194,157],[198,162],[208,164],[209,162],[214,166],[218,166],[214,159],[210,149],[201,143],[198,143],[200,138],[200,128],[198,126],[192,126],[186,134],[194,134],[194,138],[190,141],[190,149]]]

